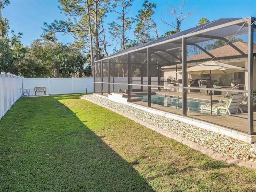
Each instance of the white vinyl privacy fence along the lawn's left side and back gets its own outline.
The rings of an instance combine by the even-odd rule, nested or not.
[[[93,78],[23,78],[10,73],[0,74],[0,119],[20,98],[21,88],[30,90],[33,96],[35,87],[46,87],[46,94],[70,94],[93,92]],[[43,95],[44,92],[36,92]]]

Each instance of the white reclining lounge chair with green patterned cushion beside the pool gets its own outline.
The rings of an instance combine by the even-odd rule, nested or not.
[[[226,105],[218,106],[218,105],[212,105],[212,112],[219,114],[237,114],[238,110],[240,110],[240,113],[243,113],[242,108],[240,108],[240,103],[242,100],[242,94],[231,94],[228,102]],[[201,112],[210,112],[211,106],[210,105],[200,105],[200,111]]]

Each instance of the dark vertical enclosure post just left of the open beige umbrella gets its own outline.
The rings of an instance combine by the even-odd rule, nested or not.
[[[182,116],[187,116],[187,39],[182,38]]]

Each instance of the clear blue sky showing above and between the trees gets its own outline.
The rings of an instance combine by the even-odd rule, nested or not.
[[[130,7],[130,17],[135,17],[138,14],[143,2],[144,0],[133,2],[133,6]],[[160,16],[162,15],[163,20],[167,23],[175,22],[175,16],[167,14],[165,7],[167,3],[177,6],[182,0],[154,0],[150,2],[156,3],[154,20],[157,24],[158,35],[161,36],[169,30],[174,30],[174,28],[164,24]],[[29,46],[33,40],[40,38],[43,33],[44,22],[50,24],[54,20],[66,20],[67,17],[60,13],[58,5],[57,0],[10,0],[10,4],[2,9],[2,15],[10,21],[10,30],[14,30],[16,34],[18,32],[23,33],[21,42],[23,45]],[[185,4],[184,13],[196,8],[194,14],[182,22],[181,30],[194,27],[198,20],[203,17],[210,21],[219,18],[256,17],[255,0],[188,0]],[[112,22],[115,18],[116,15],[110,13],[104,23]],[[133,31],[127,32],[126,36],[133,38]],[[58,34],[57,38],[64,44],[73,40],[71,35]],[[112,53],[111,50],[108,52]]]

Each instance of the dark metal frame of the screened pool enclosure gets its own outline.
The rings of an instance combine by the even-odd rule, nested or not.
[[[120,52],[118,52],[118,53],[116,53],[112,56],[109,56],[108,58],[104,58],[102,60],[95,61],[95,63],[97,63],[97,62],[101,63],[101,73],[102,74],[101,74],[101,82],[95,82],[95,77],[94,77],[94,92],[95,92],[95,84],[100,83],[101,94],[103,95],[103,60],[108,59],[108,70],[109,70],[108,71],[108,94],[110,94],[110,84],[111,83],[114,84],[114,82],[110,82],[110,73],[109,73],[110,72],[110,59],[127,54],[128,102],[130,102],[131,101],[131,88],[132,88],[132,84],[131,84],[132,64],[131,64],[131,56],[130,55],[133,52],[138,52],[140,50],[146,49],[147,50],[147,70],[148,70],[148,75],[147,75],[148,84],[146,86],[148,87],[148,107],[151,107],[151,76],[150,76],[150,74],[151,74],[150,64],[151,63],[150,63],[150,61],[151,61],[152,53],[157,54],[156,52],[158,51],[158,50],[154,50],[153,47],[161,46],[162,44],[166,44],[166,43],[176,44],[176,45],[179,45],[182,48],[182,58],[179,58],[175,55],[172,55],[178,61],[173,62],[173,63],[169,63],[168,66],[170,66],[170,65],[176,65],[177,66],[177,64],[182,64],[182,78],[183,78],[183,83],[182,83],[182,116],[187,116],[187,110],[186,110],[187,90],[190,88],[190,87],[187,86],[187,72],[186,72],[186,68],[187,68],[187,56],[186,56],[187,46],[194,45],[194,46],[198,47],[200,50],[204,51],[209,56],[214,57],[212,54],[210,54],[204,48],[198,46],[198,44],[189,43],[188,39],[192,38],[192,37],[213,38],[213,39],[218,39],[219,38],[219,39],[222,39],[222,40],[226,41],[225,38],[217,37],[217,36],[207,36],[207,35],[204,35],[204,33],[208,32],[210,30],[218,30],[218,29],[221,29],[221,28],[225,28],[227,26],[240,24],[241,22],[245,22],[244,25],[246,25],[246,24],[248,25],[248,90],[244,91],[244,92],[246,92],[248,94],[248,134],[252,135],[252,134],[254,134],[253,100],[252,100],[252,94],[253,94],[253,57],[254,57],[254,53],[253,53],[254,43],[253,43],[253,40],[254,40],[254,31],[256,29],[256,24],[255,24],[255,18],[254,17],[232,20],[231,22],[227,22],[227,23],[223,23],[223,24],[220,24],[220,25],[212,26],[210,28],[206,28],[206,29],[203,29],[203,30],[198,30],[196,32],[189,32],[188,34],[182,34],[181,36],[176,36],[174,38],[167,39],[167,40],[153,41],[153,42],[150,42],[150,43],[147,43],[147,44],[136,46],[132,49],[130,48],[130,49],[127,49],[127,50],[120,51]],[[231,44],[231,43],[228,43],[228,44],[230,44],[230,46],[232,46],[234,49],[236,49],[238,52],[240,52],[241,55],[246,55],[246,54],[244,54],[244,52],[239,50],[233,44]],[[177,47],[176,47],[176,49],[177,49]],[[167,53],[171,54],[169,52],[167,52]],[[158,54],[158,56],[160,56],[160,55]],[[226,58],[229,58],[229,57],[226,57]],[[165,58],[162,58],[162,59],[164,60]],[[220,58],[218,58],[218,59],[220,59]],[[197,60],[197,61],[194,61],[194,62],[202,62],[202,61],[204,61],[204,60]],[[161,66],[164,66],[164,65],[160,65],[160,64],[158,65],[158,86],[159,87],[160,87],[160,67]],[[96,74],[95,73],[95,67],[94,67],[94,74]],[[144,85],[142,85],[142,86],[144,86]],[[243,92],[243,91],[241,91],[241,92]],[[249,96],[251,96],[251,97],[249,97]]]

